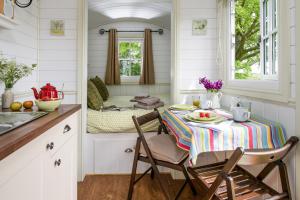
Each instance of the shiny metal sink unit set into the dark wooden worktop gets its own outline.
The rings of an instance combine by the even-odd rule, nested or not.
[[[0,135],[47,114],[47,112],[0,112]]]

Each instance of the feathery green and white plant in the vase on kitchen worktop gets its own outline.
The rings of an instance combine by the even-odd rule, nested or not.
[[[30,75],[35,68],[36,64],[32,66],[17,64],[15,60],[0,56],[0,81],[5,84],[5,88],[12,88],[18,80]]]

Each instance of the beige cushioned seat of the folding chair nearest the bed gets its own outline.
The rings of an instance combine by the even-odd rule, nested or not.
[[[188,152],[176,146],[176,140],[173,136],[160,134],[147,139],[147,144],[154,159],[178,164],[183,161]],[[144,146],[141,145],[141,156],[147,157]]]

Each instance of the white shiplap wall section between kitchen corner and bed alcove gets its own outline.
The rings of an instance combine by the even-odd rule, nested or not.
[[[64,103],[76,102],[77,0],[40,0],[39,84],[53,83],[66,91]],[[50,21],[65,21],[65,35],[50,35]]]

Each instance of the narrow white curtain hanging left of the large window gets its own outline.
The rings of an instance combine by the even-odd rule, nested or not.
[[[229,41],[230,41],[230,0],[217,1],[217,24],[218,24],[218,52],[217,65],[219,68],[219,77],[225,79],[227,75],[226,67],[228,65]]]

